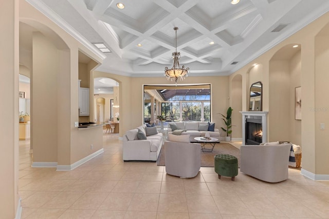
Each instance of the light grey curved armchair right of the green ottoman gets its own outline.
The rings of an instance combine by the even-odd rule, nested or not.
[[[240,171],[269,183],[287,180],[290,148],[291,144],[243,145]]]

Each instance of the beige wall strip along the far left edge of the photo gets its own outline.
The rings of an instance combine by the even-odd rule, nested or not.
[[[19,7],[4,1],[0,7],[0,214],[14,218],[19,204]],[[5,107],[4,107],[5,106]]]

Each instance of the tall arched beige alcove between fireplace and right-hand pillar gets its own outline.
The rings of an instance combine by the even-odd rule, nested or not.
[[[296,88],[301,86],[301,45],[285,45],[271,57],[269,81],[268,140],[301,145],[301,120],[295,117]]]

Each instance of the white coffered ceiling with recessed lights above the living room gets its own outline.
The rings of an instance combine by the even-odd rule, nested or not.
[[[98,70],[133,77],[172,67],[174,27],[190,75],[229,75],[329,10],[327,0],[26,1],[101,56]]]

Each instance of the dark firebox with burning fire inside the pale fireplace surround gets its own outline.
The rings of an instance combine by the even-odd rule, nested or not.
[[[262,120],[247,118],[246,120],[246,145],[259,145],[263,140]]]

